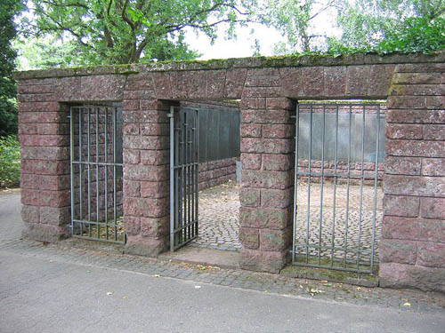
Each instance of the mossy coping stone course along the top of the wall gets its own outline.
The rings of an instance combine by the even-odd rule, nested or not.
[[[404,63],[443,63],[445,52],[423,53],[376,53],[331,55],[288,55],[279,57],[251,57],[231,59],[189,60],[148,62],[141,64],[107,65],[93,67],[51,68],[15,72],[18,81],[49,77],[90,76],[90,75],[130,75],[144,72],[169,72],[191,70],[215,70],[230,68],[258,67],[314,67],[314,66],[352,66]]]

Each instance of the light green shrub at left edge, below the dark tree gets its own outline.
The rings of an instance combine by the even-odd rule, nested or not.
[[[20,144],[17,137],[0,137],[0,187],[20,185]]]

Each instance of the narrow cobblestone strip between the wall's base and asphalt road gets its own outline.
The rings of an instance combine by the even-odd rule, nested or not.
[[[0,251],[20,254],[28,258],[41,258],[49,262],[69,262],[80,266],[106,267],[159,278],[169,277],[232,288],[252,289],[289,297],[313,298],[351,305],[391,307],[406,312],[443,313],[445,315],[445,295],[441,293],[411,289],[366,288],[345,283],[289,278],[279,274],[223,269],[216,266],[176,264],[121,254],[118,251],[122,251],[123,248],[114,245],[109,245],[109,250],[90,250],[85,245],[86,242],[76,240],[76,242],[44,245],[41,242],[12,240],[2,242]],[[2,297],[1,294],[0,297]]]

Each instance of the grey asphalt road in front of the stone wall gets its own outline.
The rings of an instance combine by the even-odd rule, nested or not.
[[[15,241],[20,236],[20,218],[14,215],[19,194],[0,197],[3,333],[443,332],[445,328],[445,311],[440,308],[405,311],[284,291],[279,295],[223,287],[199,281],[208,273],[198,275],[169,263]],[[187,279],[164,277],[189,271]]]

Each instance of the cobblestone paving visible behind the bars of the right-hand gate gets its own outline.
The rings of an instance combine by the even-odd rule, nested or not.
[[[336,202],[334,212],[334,185],[324,184],[322,224],[320,230],[320,184],[312,184],[310,195],[309,228],[308,228],[308,185],[301,183],[298,186],[298,213],[296,227],[297,254],[305,257],[305,244],[309,244],[309,255],[317,257],[319,246],[322,258],[342,260],[346,256],[348,261],[357,261],[357,250],[360,249],[360,265],[366,265],[371,259],[373,243],[373,220],[376,218],[375,239],[380,239],[383,218],[383,191],[377,187],[376,215],[374,216],[374,186],[350,186],[349,204],[348,189],[346,185],[336,186]],[[360,211],[360,196],[361,211]],[[347,217],[347,218],[346,218]],[[361,224],[360,224],[361,217]],[[346,228],[347,223],[347,228]],[[321,234],[321,239],[320,239]],[[333,237],[334,234],[334,237]],[[319,242],[320,241],[320,242]],[[331,250],[334,243],[334,250]],[[345,253],[344,248],[348,249]],[[374,243],[375,259],[378,259],[378,242]]]

